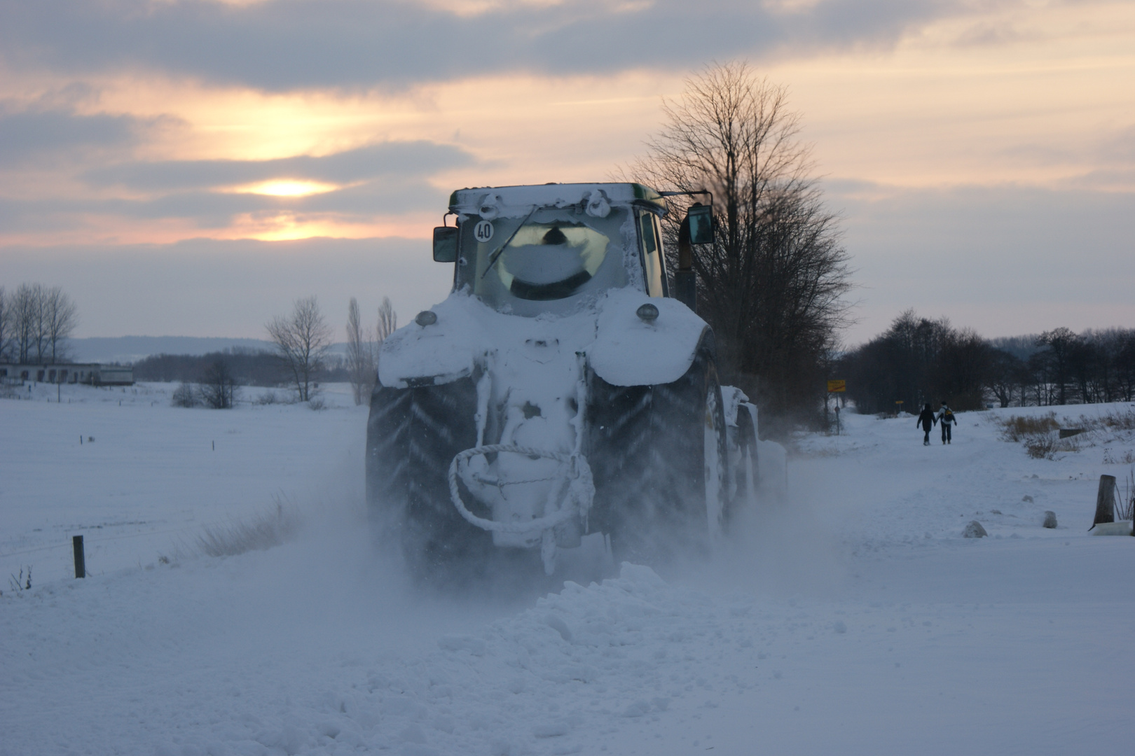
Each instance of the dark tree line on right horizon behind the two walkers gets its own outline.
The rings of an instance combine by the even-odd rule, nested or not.
[[[939,401],[957,410],[1133,401],[1135,330],[1057,328],[989,340],[908,309],[834,360],[832,376],[847,380],[848,398],[868,414]]]

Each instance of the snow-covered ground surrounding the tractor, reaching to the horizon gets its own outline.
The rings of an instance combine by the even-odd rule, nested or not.
[[[949,447],[848,413],[713,563],[435,596],[369,545],[343,387],[322,411],[175,409],[171,389],[0,400],[0,754],[1130,748],[1135,538],[1086,529],[1132,432],[1031,459],[995,418],[1046,410],[960,415]],[[277,501],[295,540],[196,552]],[[972,519],[990,537],[961,538]]]

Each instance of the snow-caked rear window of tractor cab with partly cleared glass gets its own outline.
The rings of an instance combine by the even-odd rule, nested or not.
[[[558,309],[549,304],[575,295],[625,286],[625,210],[597,218],[574,206],[533,209],[522,218],[466,218],[461,264],[472,270],[465,282],[486,304],[527,315]]]

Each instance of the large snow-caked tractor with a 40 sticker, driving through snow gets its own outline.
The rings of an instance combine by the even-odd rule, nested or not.
[[[372,520],[420,575],[502,549],[550,575],[592,534],[620,559],[696,552],[750,498],[756,409],[718,383],[692,271],[690,306],[669,290],[665,213],[639,184],[453,193],[453,290],[382,343],[367,430]],[[711,235],[695,204],[680,246]]]

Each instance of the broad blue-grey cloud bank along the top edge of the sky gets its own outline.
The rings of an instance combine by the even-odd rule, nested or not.
[[[403,87],[502,73],[686,69],[709,59],[891,44],[964,0],[504,2],[0,0],[0,60],[65,76],[162,71],[264,91]],[[488,93],[491,96],[491,93]]]

